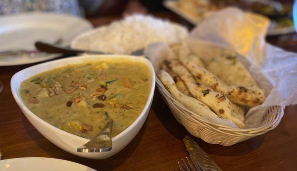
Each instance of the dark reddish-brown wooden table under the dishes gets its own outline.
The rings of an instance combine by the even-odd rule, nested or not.
[[[157,16],[185,23],[169,11],[157,13]],[[90,18],[90,21],[99,26],[117,18],[119,16],[98,17]],[[0,80],[4,84],[0,93],[0,150],[3,159],[50,157],[77,162],[99,171],[178,171],[177,161],[188,156],[182,139],[189,133],[174,119],[157,90],[144,126],[118,154],[105,160],[90,160],[61,150],[31,125],[12,97],[11,76],[32,65],[0,67]],[[231,147],[195,140],[224,171],[297,171],[296,113],[297,106],[287,107],[276,129]]]

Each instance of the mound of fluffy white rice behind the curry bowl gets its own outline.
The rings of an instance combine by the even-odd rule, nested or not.
[[[188,34],[188,30],[181,25],[137,14],[84,33],[75,38],[71,47],[112,54],[131,54],[154,42],[180,42]]]

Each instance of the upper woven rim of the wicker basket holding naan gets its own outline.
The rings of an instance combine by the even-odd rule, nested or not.
[[[274,106],[274,107],[280,107],[280,114],[276,118],[274,118],[274,120],[272,122],[267,123],[267,124],[264,124],[264,125],[259,126],[259,127],[255,127],[255,128],[233,128],[233,127],[221,125],[221,124],[218,124],[218,123],[213,123],[213,122],[211,122],[211,121],[203,118],[199,114],[196,114],[196,113],[190,111],[189,109],[187,109],[184,105],[182,105],[176,99],[174,99],[174,97],[167,91],[167,89],[164,87],[164,85],[158,79],[157,76],[156,76],[156,83],[157,83],[156,84],[157,87],[160,88],[164,92],[165,96],[167,98],[169,98],[171,101],[173,101],[174,104],[177,104],[178,106],[183,107],[183,110],[185,110],[186,112],[188,112],[190,114],[193,114],[196,117],[198,117],[198,119],[199,119],[198,121],[202,121],[204,123],[209,124],[207,126],[210,126],[213,129],[217,129],[217,131],[219,131],[219,132],[226,133],[224,131],[232,131],[232,132],[234,132],[238,136],[240,136],[240,135],[254,136],[255,134],[259,134],[260,135],[260,134],[263,134],[263,133],[265,133],[265,132],[273,129],[274,127],[276,127],[279,124],[279,122],[281,121],[281,118],[284,115],[285,106]],[[190,116],[190,117],[192,117],[192,116]],[[195,119],[197,119],[197,118],[195,118]],[[250,134],[247,134],[247,132],[250,132]],[[252,133],[252,132],[254,132],[254,133]],[[234,135],[234,134],[232,134],[232,135]]]

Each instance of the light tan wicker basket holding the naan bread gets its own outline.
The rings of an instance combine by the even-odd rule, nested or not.
[[[156,78],[157,87],[174,117],[194,136],[211,144],[231,146],[274,129],[281,121],[285,107],[273,106],[268,109],[256,128],[239,129],[212,123],[195,114],[176,101]]]

